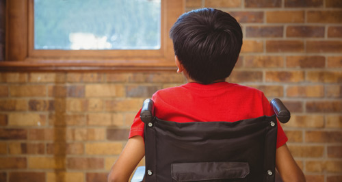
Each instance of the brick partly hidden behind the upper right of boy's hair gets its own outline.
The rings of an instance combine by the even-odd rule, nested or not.
[[[263,23],[263,12],[229,12],[239,23]]]

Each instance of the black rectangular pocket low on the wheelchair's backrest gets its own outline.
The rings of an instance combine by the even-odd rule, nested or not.
[[[177,182],[237,182],[250,173],[246,162],[196,162],[171,165],[172,180]]]

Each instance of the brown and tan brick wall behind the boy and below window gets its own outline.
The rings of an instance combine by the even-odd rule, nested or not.
[[[340,0],[188,0],[243,27],[228,81],[282,99],[283,125],[307,181],[342,181]],[[175,72],[175,71],[174,71]],[[105,181],[142,101],[176,73],[0,73],[0,181]]]

